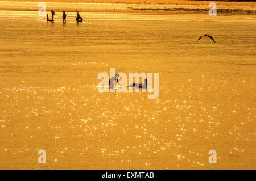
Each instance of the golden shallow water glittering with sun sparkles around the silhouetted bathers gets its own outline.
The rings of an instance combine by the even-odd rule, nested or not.
[[[81,16],[0,11],[1,169],[256,169],[253,16]],[[110,68],[159,98],[100,94]]]

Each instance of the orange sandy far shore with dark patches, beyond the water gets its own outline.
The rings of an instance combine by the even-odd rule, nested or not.
[[[209,1],[171,1],[171,0],[46,0],[46,11],[80,11],[80,12],[127,12],[140,14],[208,14],[210,9]],[[121,2],[120,2],[121,1]],[[138,3],[132,3],[132,2]],[[42,0],[30,1],[0,1],[0,10],[13,11],[38,11],[39,2]],[[97,2],[97,3],[96,3]],[[112,2],[112,3],[110,3]],[[141,2],[141,3],[140,3]],[[152,3],[150,3],[152,2]],[[155,3],[154,3],[155,2]],[[249,14],[256,15],[256,2],[217,2],[217,14]],[[168,4],[167,4],[168,3]]]

